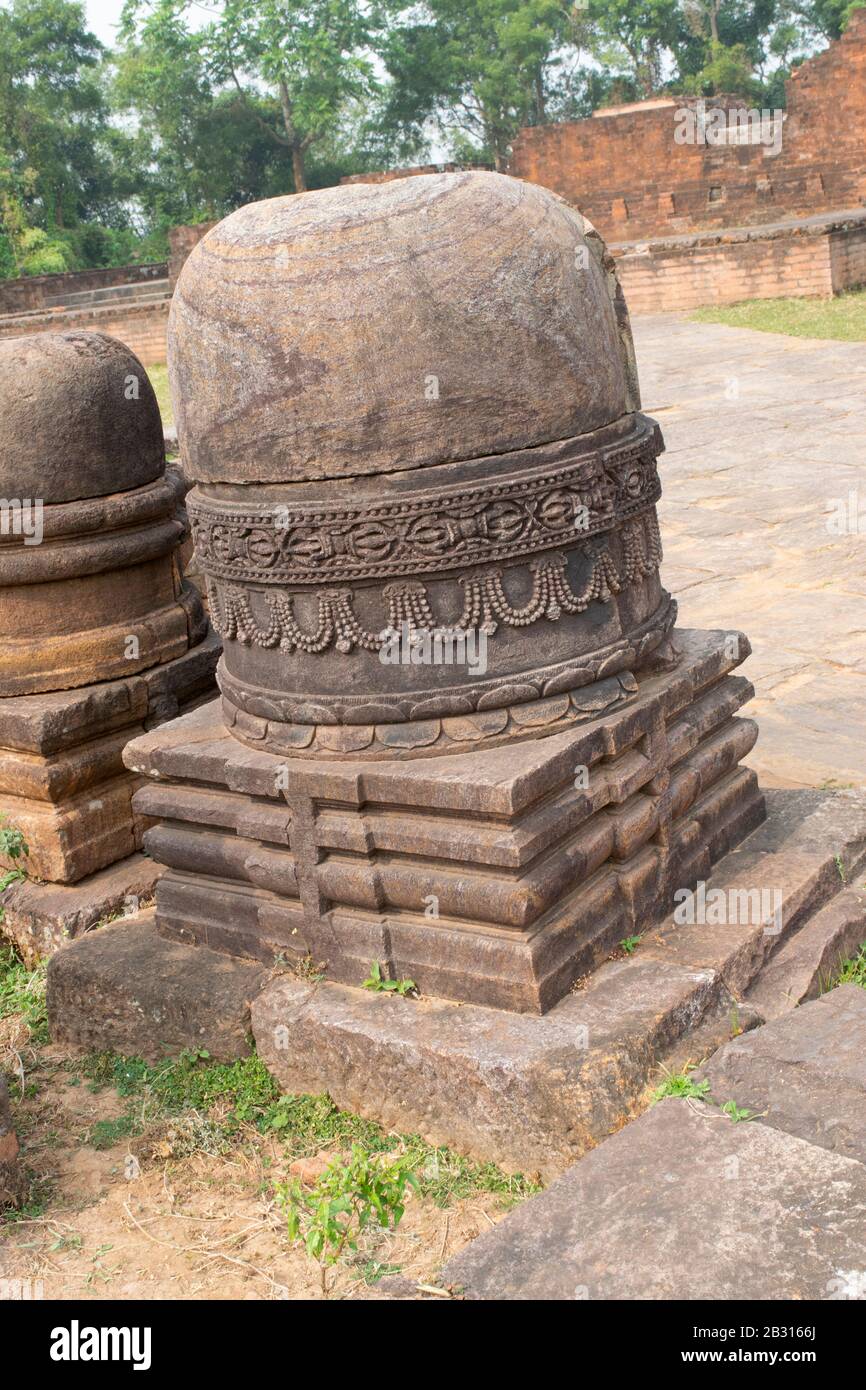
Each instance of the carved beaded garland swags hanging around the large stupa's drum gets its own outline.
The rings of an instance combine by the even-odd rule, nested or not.
[[[375,652],[403,623],[410,631],[424,628],[435,632],[481,628],[492,635],[499,624],[527,627],[545,617],[556,621],[563,613],[582,613],[591,603],[606,603],[627,584],[653,574],[662,560],[662,539],[655,512],[635,517],[620,530],[623,562],[617,567],[607,541],[589,541],[589,573],[580,594],[571,588],[566,574],[566,556],[539,556],[532,560],[532,594],[527,603],[514,607],[509,600],[502,570],[467,574],[459,578],[464,591],[463,613],[455,624],[441,624],[431,606],[425,585],[420,580],[399,580],[388,584],[384,598],[388,613],[382,614],[382,628],[370,632],[359,623],[352,589],[320,589],[318,614],[314,631],[302,628],[295,617],[291,594],[282,589],[264,592],[268,620],[263,626],[256,619],[250,592],[209,575],[211,621],[224,641],[238,641],[243,646],[279,648],[285,652],[302,651],[310,655],[335,645],[338,652],[360,646]]]

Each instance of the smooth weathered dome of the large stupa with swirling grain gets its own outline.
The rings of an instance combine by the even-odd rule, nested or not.
[[[585,434],[630,409],[582,217],[502,174],[242,207],[188,259],[168,332],[197,481],[427,467]]]

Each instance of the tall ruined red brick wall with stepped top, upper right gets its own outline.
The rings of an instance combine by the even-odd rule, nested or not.
[[[524,129],[509,172],[560,193],[609,242],[858,207],[866,202],[866,8],[790,79],[778,154],[760,145],[677,145],[678,106],[656,100]]]

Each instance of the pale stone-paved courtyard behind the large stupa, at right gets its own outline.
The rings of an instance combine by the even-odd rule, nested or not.
[[[765,787],[866,785],[866,343],[639,317],[662,424],[662,580],[688,627],[742,627]],[[859,524],[827,528],[853,495]]]

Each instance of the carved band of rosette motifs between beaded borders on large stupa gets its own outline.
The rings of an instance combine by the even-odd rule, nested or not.
[[[232,509],[197,489],[186,500],[211,577],[250,584],[382,578],[514,559],[610,531],[657,502],[660,448],[657,431],[641,421],[624,443],[460,491],[427,488],[341,509]]]

